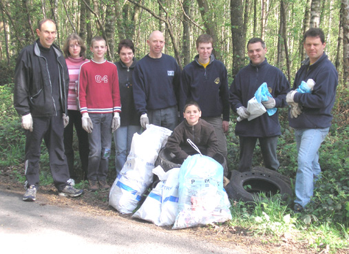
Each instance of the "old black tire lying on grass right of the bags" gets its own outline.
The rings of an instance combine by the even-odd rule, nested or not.
[[[266,193],[268,198],[279,193],[284,201],[292,197],[292,189],[289,184],[275,176],[256,171],[242,173],[232,171],[231,181],[226,186],[226,193],[232,200],[243,202],[255,202],[256,194],[259,193]]]

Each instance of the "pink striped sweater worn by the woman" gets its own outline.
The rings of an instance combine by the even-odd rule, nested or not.
[[[69,110],[78,110],[78,105],[76,102],[76,96],[78,96],[78,73],[80,72],[81,65],[87,61],[87,59],[83,59],[83,56],[79,57],[78,59],[73,59],[72,57],[68,56],[68,58],[65,59],[70,80],[67,103]]]

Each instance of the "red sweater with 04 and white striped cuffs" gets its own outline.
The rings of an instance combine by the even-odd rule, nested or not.
[[[83,63],[78,77],[78,101],[81,114],[121,112],[116,65],[109,61]]]

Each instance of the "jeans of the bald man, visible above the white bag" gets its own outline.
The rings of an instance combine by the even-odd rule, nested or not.
[[[167,107],[165,109],[148,109],[149,123],[160,127],[165,127],[173,131],[178,125],[177,106]]]

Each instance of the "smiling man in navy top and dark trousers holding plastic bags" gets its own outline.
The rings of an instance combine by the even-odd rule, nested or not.
[[[277,138],[281,134],[278,112],[272,116],[262,114],[253,120],[247,120],[248,100],[253,98],[258,87],[266,82],[268,90],[273,96],[262,102],[266,109],[286,106],[286,94],[290,91],[290,85],[282,73],[266,60],[266,45],[260,38],[253,38],[247,43],[247,54],[250,64],[242,68],[234,78],[230,87],[231,109],[236,112],[240,122],[236,123],[235,134],[240,139],[240,163],[238,170],[250,171],[252,166],[253,150],[257,139],[260,142],[264,166],[277,170]]]

